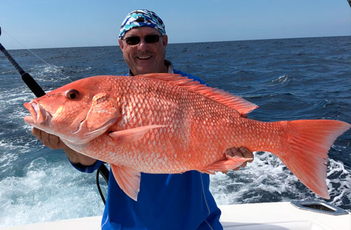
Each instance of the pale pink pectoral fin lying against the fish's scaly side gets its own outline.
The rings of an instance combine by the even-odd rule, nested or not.
[[[143,138],[145,133],[151,129],[167,127],[168,125],[147,125],[142,127],[137,127],[134,129],[124,129],[121,131],[114,131],[109,133],[108,136],[118,141],[125,142],[135,142]]]

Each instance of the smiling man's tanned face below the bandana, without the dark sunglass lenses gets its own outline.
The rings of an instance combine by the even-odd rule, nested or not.
[[[160,36],[160,32],[152,27],[138,27],[127,31],[123,40],[119,39],[124,60],[134,75],[167,72],[165,66],[167,35],[160,37],[158,42],[147,43],[144,38],[148,35]],[[140,42],[134,45],[127,44],[125,39],[132,36],[140,37]]]

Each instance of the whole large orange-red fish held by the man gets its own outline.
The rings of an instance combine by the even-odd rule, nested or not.
[[[338,120],[265,123],[242,115],[257,106],[222,90],[170,74],[97,76],[75,81],[25,103],[25,122],[71,149],[111,165],[136,200],[140,172],[215,173],[249,160],[226,150],[245,146],[274,153],[308,188],[329,198],[326,159]]]

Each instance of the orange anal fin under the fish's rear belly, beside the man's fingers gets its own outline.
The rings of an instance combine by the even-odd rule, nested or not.
[[[244,162],[247,162],[252,158],[245,158],[245,157],[231,157],[230,155],[226,155],[226,159],[220,159],[218,162],[210,164],[199,172],[205,172],[208,174],[215,174],[215,172],[226,172],[228,170],[232,170],[241,166]]]

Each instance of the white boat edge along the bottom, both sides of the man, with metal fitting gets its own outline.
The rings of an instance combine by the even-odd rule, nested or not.
[[[350,230],[351,213],[324,201],[219,205],[224,230]],[[101,229],[101,216],[39,222],[0,230]]]

